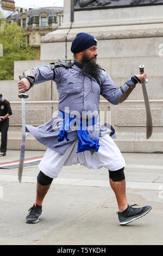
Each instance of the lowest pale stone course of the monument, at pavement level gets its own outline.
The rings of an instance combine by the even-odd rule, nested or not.
[[[163,153],[163,134],[153,133],[152,137],[146,139],[146,133],[116,133],[117,139],[114,139],[121,152],[127,153]],[[159,138],[159,139],[158,139]],[[8,150],[21,149],[21,132],[8,132]],[[29,135],[26,138],[26,150],[46,150],[47,147],[37,142],[36,139]]]

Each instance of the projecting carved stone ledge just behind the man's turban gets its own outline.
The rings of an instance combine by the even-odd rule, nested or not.
[[[73,41],[77,33],[83,32],[83,27],[69,29],[58,29],[46,34],[42,42],[65,42]],[[144,25],[128,25],[128,26],[106,26],[106,27],[87,27],[84,29],[85,33],[91,33],[97,40],[110,39],[128,39],[128,38],[153,38],[163,36],[162,23],[144,24]]]

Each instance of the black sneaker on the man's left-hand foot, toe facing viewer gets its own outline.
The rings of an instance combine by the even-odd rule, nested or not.
[[[42,205],[34,204],[28,211],[29,214],[26,217],[26,223],[37,223],[43,215]]]

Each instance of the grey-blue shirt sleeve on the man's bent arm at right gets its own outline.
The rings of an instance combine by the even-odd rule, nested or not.
[[[117,105],[117,100],[122,96],[123,93],[133,84],[131,78],[124,83],[121,88],[117,87],[116,84],[112,81],[110,76],[104,72],[103,82],[101,85],[101,95],[108,100],[110,103]]]

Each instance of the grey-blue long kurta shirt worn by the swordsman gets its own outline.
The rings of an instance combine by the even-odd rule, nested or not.
[[[55,70],[52,70],[50,65],[41,65],[36,66],[34,70],[36,71],[35,84],[48,80],[55,81],[59,94],[58,109],[67,114],[74,113],[74,111],[78,112],[81,118],[83,112],[87,113],[88,118],[92,117],[92,113],[95,116],[98,115],[100,94],[110,103],[117,105],[117,100],[123,94],[122,90],[126,92],[129,86],[133,84],[133,81],[129,78],[127,80],[128,85],[124,83],[121,90],[121,88],[116,87],[110,76],[101,69],[98,75],[99,86],[95,78],[82,74],[82,70],[75,64],[71,68],[61,66]],[[55,117],[48,123],[38,127],[26,125],[27,134],[29,132],[32,133],[37,141],[64,154],[67,148],[78,139],[78,135],[76,130],[70,129],[68,132],[70,141],[58,142],[58,133],[62,126],[62,120],[60,117]],[[106,133],[109,133],[113,138],[115,137],[109,124],[105,124],[103,127],[102,125],[97,123],[93,126],[87,126],[87,132],[91,139],[98,139]]]

